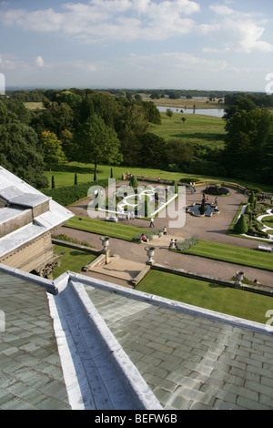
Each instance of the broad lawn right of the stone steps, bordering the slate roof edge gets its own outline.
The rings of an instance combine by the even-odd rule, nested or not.
[[[158,270],[151,270],[136,290],[261,323],[273,308],[272,297]]]

